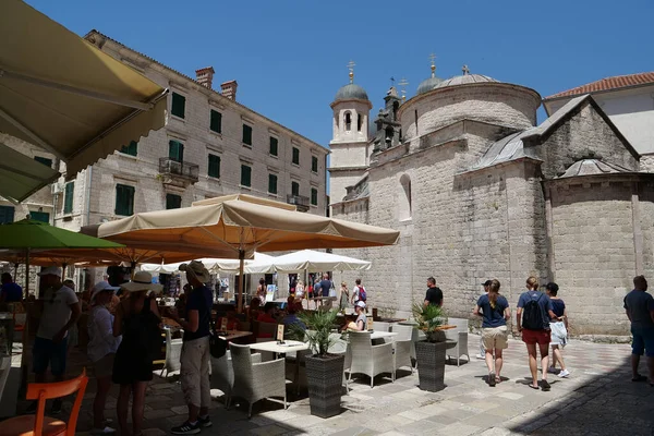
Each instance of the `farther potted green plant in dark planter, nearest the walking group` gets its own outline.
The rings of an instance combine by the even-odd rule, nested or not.
[[[445,389],[445,354],[449,344],[444,330],[453,326],[446,325],[447,317],[440,306],[415,303],[412,312],[414,328],[426,336],[425,340],[415,342],[420,388],[436,392]]]

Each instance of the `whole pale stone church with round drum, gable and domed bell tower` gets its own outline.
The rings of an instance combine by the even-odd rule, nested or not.
[[[401,232],[343,251],[373,262],[343,280],[407,316],[434,276],[448,314],[470,317],[483,281],[497,278],[514,313],[533,275],[560,286],[572,335],[629,334],[622,299],[634,275],[654,279],[654,173],[592,96],[536,125],[536,90],[432,65],[415,96],[391,87],[384,101],[368,125],[351,71],[330,105],[332,216]]]

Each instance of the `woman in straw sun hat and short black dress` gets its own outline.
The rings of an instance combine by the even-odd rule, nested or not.
[[[138,436],[142,433],[145,409],[145,389],[153,379],[153,358],[149,343],[144,343],[144,331],[158,328],[161,320],[154,293],[162,286],[152,282],[152,275],[138,271],[134,279],[121,284],[129,298],[121,301],[113,319],[113,336],[122,335],[122,342],[113,361],[112,380],[120,385],[117,401],[118,424],[121,435]],[[153,291],[153,295],[146,293]],[[128,428],[128,407],[132,397],[132,432]]]

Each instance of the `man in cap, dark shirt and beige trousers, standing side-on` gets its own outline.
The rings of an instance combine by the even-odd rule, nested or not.
[[[180,382],[189,405],[189,419],[172,427],[173,435],[194,435],[202,427],[211,426],[209,403],[209,329],[213,305],[211,289],[205,286],[210,280],[209,271],[202,262],[193,261],[180,265],[186,272],[186,280],[193,287],[186,299],[184,318],[177,314],[175,320],[184,329],[182,354],[180,356]]]

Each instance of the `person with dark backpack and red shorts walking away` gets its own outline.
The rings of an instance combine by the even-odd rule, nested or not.
[[[541,350],[541,368],[543,372],[540,387],[547,391],[550,388],[549,383],[547,383],[550,342],[549,319],[556,319],[557,316],[554,314],[549,296],[538,291],[538,279],[535,277],[528,278],[526,289],[528,291],[522,293],[518,300],[516,325],[518,331],[522,332],[522,341],[526,344],[526,352],[529,353],[529,368],[532,374],[532,383],[529,387],[538,389],[537,344]]]

